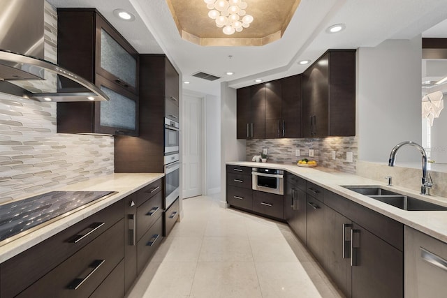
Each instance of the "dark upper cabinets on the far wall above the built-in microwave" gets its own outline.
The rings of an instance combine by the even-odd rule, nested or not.
[[[237,138],[301,137],[301,75],[237,89]]]

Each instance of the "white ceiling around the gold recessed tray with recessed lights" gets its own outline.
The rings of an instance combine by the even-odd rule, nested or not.
[[[413,38],[447,19],[446,0],[302,0],[281,40],[263,47],[202,47],[180,38],[163,0],[47,1],[56,7],[97,8],[138,52],[165,53],[183,80],[191,82],[184,89],[214,95],[220,94],[221,82],[238,88],[255,84],[256,78],[295,75],[307,68],[298,61],[314,61],[329,48],[374,47],[386,39]],[[112,13],[116,8],[134,13],[135,22],[118,20]],[[346,29],[325,32],[337,23],[346,24]],[[446,28],[444,22],[423,36],[445,37]],[[208,82],[191,77],[198,71],[222,78]]]

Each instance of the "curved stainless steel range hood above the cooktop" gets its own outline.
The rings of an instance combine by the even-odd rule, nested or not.
[[[0,1],[0,92],[39,101],[109,100],[44,58],[44,0]]]

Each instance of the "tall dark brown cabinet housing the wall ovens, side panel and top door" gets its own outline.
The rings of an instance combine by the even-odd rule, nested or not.
[[[139,77],[144,82],[139,90],[139,134],[115,138],[115,172],[162,173],[165,116],[178,118],[179,75],[165,55],[140,54]],[[167,103],[174,110],[168,110]]]

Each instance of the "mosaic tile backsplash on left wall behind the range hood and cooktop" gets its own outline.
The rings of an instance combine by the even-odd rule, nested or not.
[[[45,2],[45,59],[57,57],[57,13]],[[112,174],[113,137],[57,133],[56,103],[0,94],[0,203]]]

